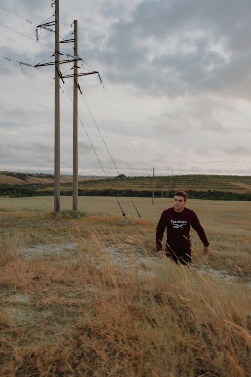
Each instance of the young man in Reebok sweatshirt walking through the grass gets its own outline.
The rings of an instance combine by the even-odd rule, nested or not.
[[[204,254],[209,253],[209,242],[196,213],[185,208],[186,202],[187,194],[184,191],[176,191],[174,206],[162,213],[157,225],[156,247],[160,258],[167,255],[177,264],[188,265],[192,261],[189,238],[190,226],[198,233],[204,245]],[[165,251],[163,251],[162,238],[165,229],[167,229],[167,241]]]

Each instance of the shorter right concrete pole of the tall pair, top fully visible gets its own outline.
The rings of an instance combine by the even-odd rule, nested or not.
[[[74,56],[78,56],[78,22],[74,20]],[[73,67],[73,173],[72,211],[78,210],[78,65]]]

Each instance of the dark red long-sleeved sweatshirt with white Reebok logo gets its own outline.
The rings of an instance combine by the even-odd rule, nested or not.
[[[184,208],[182,212],[175,212],[173,207],[163,211],[156,229],[157,251],[162,250],[165,229],[167,229],[166,251],[190,249],[190,226],[198,233],[204,246],[209,246],[204,229],[194,211]]]

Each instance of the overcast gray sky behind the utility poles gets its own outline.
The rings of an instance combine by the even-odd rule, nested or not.
[[[20,64],[54,60],[54,32],[36,38],[54,10],[50,0],[0,2],[0,170],[54,171],[54,67]],[[249,0],[60,0],[62,38],[74,19],[79,72],[102,78],[79,78],[79,174],[251,175]],[[72,173],[64,81],[61,173]]]

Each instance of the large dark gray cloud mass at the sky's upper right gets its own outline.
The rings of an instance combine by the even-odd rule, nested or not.
[[[247,91],[248,9],[244,0],[144,1],[131,21],[120,17],[111,24],[106,43],[94,54],[107,64],[105,74],[113,82],[132,82],[153,93]]]

